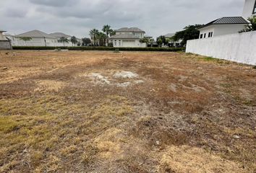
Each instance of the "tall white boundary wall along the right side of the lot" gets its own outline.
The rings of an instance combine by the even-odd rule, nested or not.
[[[256,65],[256,31],[189,40],[186,52]]]

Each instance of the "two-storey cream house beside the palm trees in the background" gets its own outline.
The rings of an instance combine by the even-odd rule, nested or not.
[[[116,35],[109,38],[110,42],[116,48],[120,47],[137,47],[145,48],[146,43],[140,43],[140,39],[144,38],[145,31],[140,30],[137,27],[122,27],[119,30],[115,30]]]

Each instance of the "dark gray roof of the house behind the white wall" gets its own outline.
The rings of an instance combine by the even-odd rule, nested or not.
[[[244,17],[221,17],[219,19],[213,20],[212,22],[202,27],[208,27],[210,25],[248,24],[248,23],[249,22],[246,19],[244,19]]]

